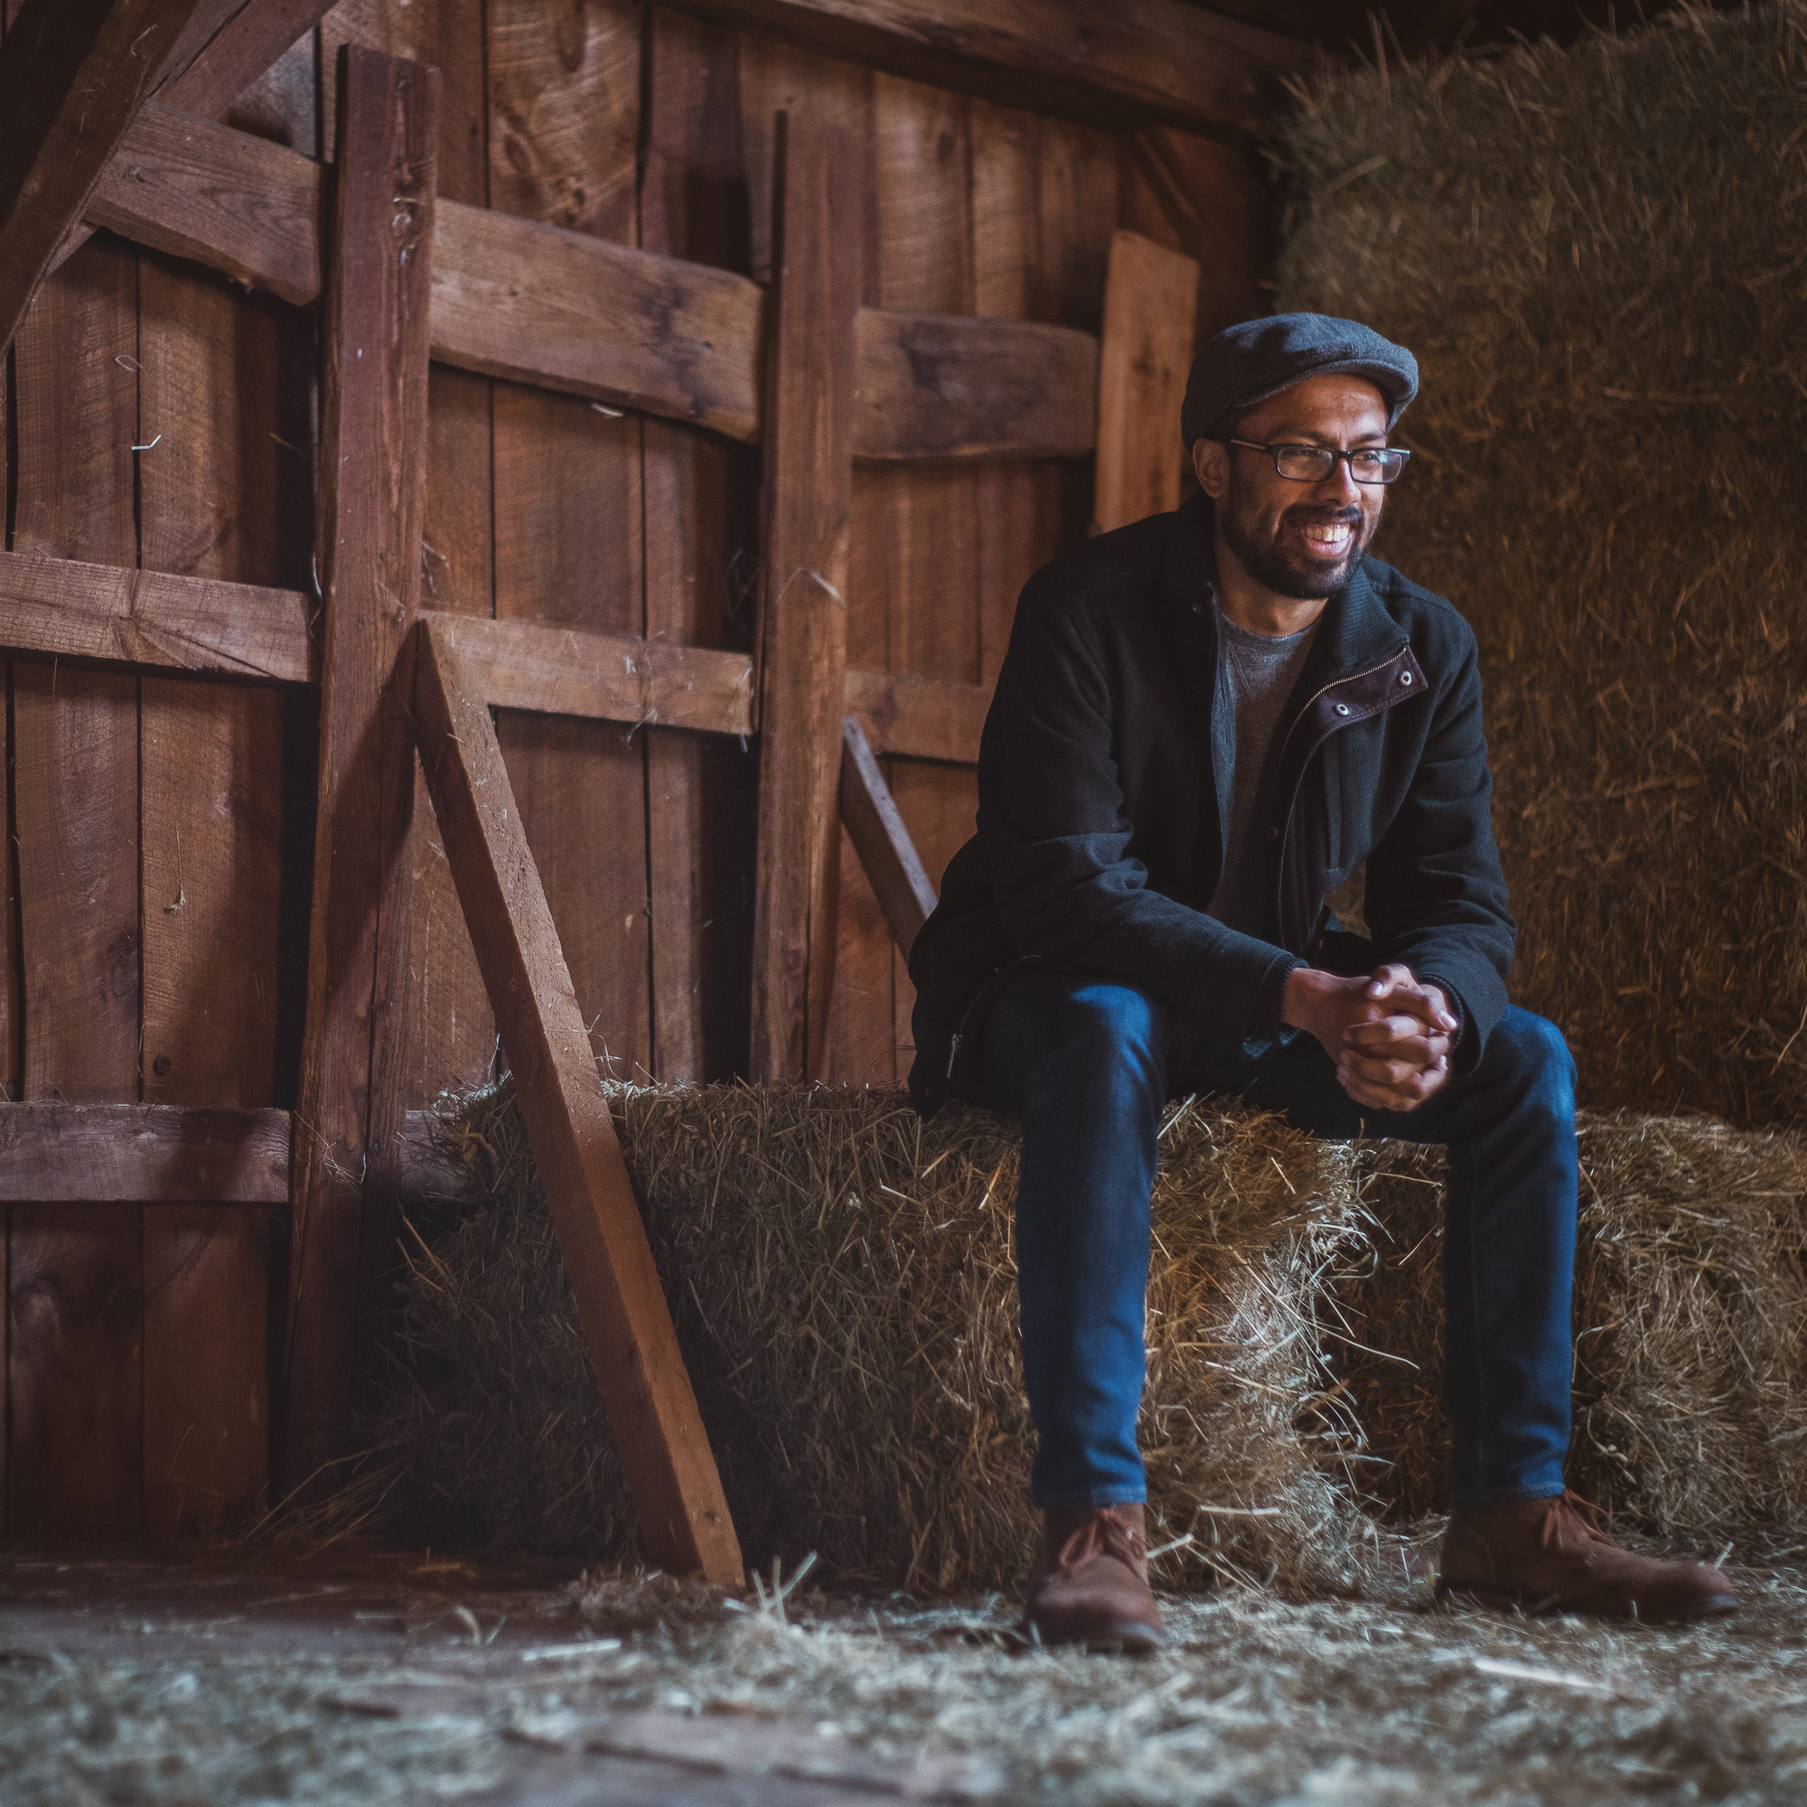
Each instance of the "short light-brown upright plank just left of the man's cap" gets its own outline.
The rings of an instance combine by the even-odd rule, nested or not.
[[[1196,313],[1193,258],[1131,231],[1111,239],[1093,502],[1104,531],[1180,506],[1180,399]]]

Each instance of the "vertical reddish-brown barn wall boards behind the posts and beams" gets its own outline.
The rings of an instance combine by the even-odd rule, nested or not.
[[[343,42],[435,63],[441,192],[764,280],[773,116],[864,146],[866,302],[1097,331],[1119,226],[1203,262],[1200,329],[1263,305],[1243,157],[811,56],[625,0],[345,0],[226,114],[322,155]],[[5,363],[5,544],[307,589],[313,320],[96,237]],[[435,367],[425,602],[746,649],[757,452]],[[1068,463],[862,466],[847,658],[990,681],[1023,580],[1084,535]],[[0,1081],[9,1097],[295,1102],[314,707],[273,688],[5,670]],[[502,712],[499,732],[598,1053],[714,1079],[748,1041],[757,750]],[[970,770],[889,761],[932,878]],[[495,1072],[425,790],[408,1104]],[[828,1077],[891,1084],[911,985],[851,844]],[[284,1223],[233,1207],[11,1205],[0,1494],[9,1536],[164,1534],[266,1496]]]

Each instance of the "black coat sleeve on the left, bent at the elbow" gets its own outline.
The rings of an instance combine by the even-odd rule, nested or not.
[[[1281,1039],[1296,956],[1149,889],[1111,754],[1111,687],[1081,609],[1025,591],[979,748],[979,840],[1021,954],[1147,992],[1211,1052]]]

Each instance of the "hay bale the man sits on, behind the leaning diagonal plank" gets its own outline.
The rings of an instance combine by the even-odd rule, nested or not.
[[[1034,1540],[1016,1335],[1017,1135],[896,1091],[609,1090],[748,1559],[1014,1585]],[[486,1203],[417,1223],[390,1399],[354,1494],[434,1543],[622,1556],[632,1514],[504,1086],[445,1133]],[[1312,1301],[1359,1241],[1350,1151],[1274,1117],[1162,1131],[1142,1415],[1155,1541],[1323,1587],[1364,1521],[1335,1480]],[[361,1493],[360,1493],[361,1489]]]

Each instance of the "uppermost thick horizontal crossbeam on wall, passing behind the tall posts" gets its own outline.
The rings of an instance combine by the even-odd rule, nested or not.
[[[320,184],[309,157],[152,103],[87,217],[311,305]],[[757,441],[764,305],[764,289],[732,271],[452,201],[437,210],[441,363]],[[1091,450],[1099,343],[1090,332],[864,309],[855,340],[857,457]]]

